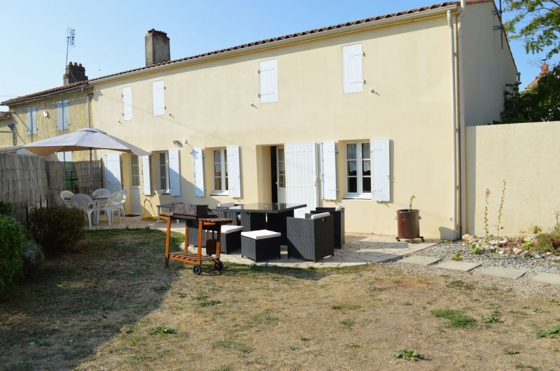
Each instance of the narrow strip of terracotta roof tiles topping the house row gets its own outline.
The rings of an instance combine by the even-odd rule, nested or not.
[[[483,3],[483,2],[489,2],[489,1],[493,1],[493,0],[467,0],[467,3]],[[275,38],[267,38],[265,40],[253,41],[252,43],[246,43],[246,44],[243,44],[243,45],[232,46],[230,48],[225,48],[225,49],[221,49],[221,50],[214,50],[213,52],[196,54],[196,55],[193,55],[193,56],[190,56],[190,57],[183,57],[183,58],[179,58],[179,59],[174,59],[172,61],[165,61],[165,62],[161,62],[161,63],[158,63],[158,64],[151,64],[150,66],[143,66],[143,67],[139,67],[139,68],[134,68],[132,70],[121,71],[121,72],[118,72],[118,73],[112,73],[111,75],[105,75],[105,76],[102,76],[102,77],[99,77],[99,78],[92,78],[92,79],[86,80],[86,81],[75,82],[75,83],[70,84],[70,85],[53,87],[52,89],[43,90],[42,92],[36,92],[36,93],[33,93],[33,94],[28,94],[28,95],[25,95],[25,96],[18,96],[17,98],[8,99],[8,101],[1,102],[0,105],[9,106],[10,104],[18,103],[19,101],[38,98],[38,97],[46,95],[46,94],[51,94],[51,93],[56,93],[56,92],[64,92],[66,89],[72,89],[73,87],[79,87],[81,85],[88,85],[89,82],[94,82],[96,80],[112,78],[114,76],[125,75],[127,73],[132,73],[132,72],[137,72],[137,71],[144,71],[144,70],[148,70],[150,68],[154,68],[154,67],[157,67],[157,66],[164,66],[164,65],[168,65],[168,64],[176,64],[176,63],[179,63],[179,62],[182,62],[182,61],[190,61],[190,60],[193,60],[193,59],[200,59],[202,57],[209,57],[209,56],[216,55],[216,54],[231,52],[233,50],[242,50],[242,49],[251,48],[251,47],[257,46],[257,45],[274,43],[276,41],[289,40],[291,38],[297,38],[297,37],[300,37],[300,36],[307,36],[307,35],[312,35],[312,34],[321,34],[325,31],[331,31],[331,30],[334,30],[334,29],[344,29],[345,27],[355,26],[357,24],[365,24],[365,23],[370,23],[370,22],[376,22],[376,21],[379,21],[379,20],[388,20],[388,19],[395,18],[395,17],[401,17],[403,15],[412,15],[412,14],[416,14],[416,13],[426,12],[428,10],[436,10],[436,9],[440,9],[440,8],[445,8],[447,6],[458,6],[459,4],[460,3],[458,1],[446,1],[444,3],[437,3],[437,4],[430,5],[430,6],[423,6],[421,8],[404,10],[404,11],[400,11],[400,12],[397,12],[397,13],[389,13],[389,14],[385,14],[385,15],[378,15],[376,17],[364,18],[362,20],[355,20],[355,21],[352,21],[352,22],[335,24],[335,25],[332,25],[332,26],[321,27],[321,28],[318,28],[318,29],[310,29],[308,31],[297,32],[295,34],[288,34],[288,35],[284,35],[284,36],[278,36],[278,37],[275,37]]]

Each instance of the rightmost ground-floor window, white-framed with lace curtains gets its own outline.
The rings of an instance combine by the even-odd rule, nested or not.
[[[346,143],[346,196],[370,198],[371,192],[370,142]]]

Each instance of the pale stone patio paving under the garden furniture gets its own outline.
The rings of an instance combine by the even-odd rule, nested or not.
[[[92,226],[92,228],[86,227],[85,229],[99,230],[146,227],[165,231],[166,224],[164,221],[144,221],[141,217],[126,217],[125,219],[121,219],[121,223],[116,221],[112,226],[109,226],[102,217],[101,223],[98,226]],[[185,233],[185,226],[182,223],[172,223],[172,231]],[[272,259],[257,264],[290,268],[337,268],[370,263],[383,263],[400,259],[402,256],[426,249],[426,247],[435,245],[437,242],[439,241],[433,240],[412,244],[409,242],[397,242],[395,236],[392,235],[349,233],[345,236],[345,244],[342,249],[335,249],[335,256],[330,256],[322,261],[315,263],[313,261],[304,261],[294,258],[288,259],[287,247],[282,246],[281,259]],[[194,247],[190,247],[189,249],[194,249]],[[255,263],[251,259],[242,258],[240,251],[234,254],[223,254],[221,260],[238,264]]]

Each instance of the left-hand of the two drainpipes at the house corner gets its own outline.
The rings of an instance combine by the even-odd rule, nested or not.
[[[453,156],[453,229],[457,237],[457,94],[455,83],[455,32],[453,13],[447,10],[447,23],[449,24],[449,60],[451,63],[451,143]]]

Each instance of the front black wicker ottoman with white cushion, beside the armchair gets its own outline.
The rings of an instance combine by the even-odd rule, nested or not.
[[[241,232],[241,256],[254,261],[280,258],[280,233],[267,229]]]

